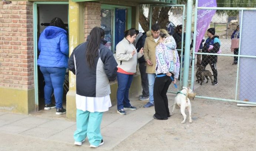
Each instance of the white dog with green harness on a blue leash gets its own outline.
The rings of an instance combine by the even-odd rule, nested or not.
[[[173,115],[174,108],[176,105],[178,105],[180,107],[180,112],[183,115],[183,121],[181,123],[185,123],[187,118],[185,114],[185,109],[187,108],[187,110],[189,111],[189,123],[192,123],[192,118],[191,118],[192,108],[191,108],[189,97],[193,98],[195,97],[196,94],[190,88],[186,88],[186,87],[182,87],[182,88],[183,89],[180,92],[178,92],[175,97],[172,112],[170,115]]]

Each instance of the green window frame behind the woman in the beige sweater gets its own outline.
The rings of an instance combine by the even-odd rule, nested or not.
[[[127,23],[126,23],[126,27],[127,29],[132,28],[132,7],[129,6],[119,6],[119,5],[107,5],[107,4],[102,4],[101,9],[108,9],[108,10],[113,10],[113,20],[112,20],[112,24],[113,24],[113,30],[112,30],[112,49],[115,50],[115,35],[114,35],[114,31],[115,31],[115,8],[126,8],[127,9]],[[113,52],[112,50],[112,52]]]

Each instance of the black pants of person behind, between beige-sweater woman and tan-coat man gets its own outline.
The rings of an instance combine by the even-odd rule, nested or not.
[[[143,89],[142,94],[145,96],[149,96],[149,80],[147,80],[145,64],[146,64],[145,62],[139,63],[141,84],[142,84],[142,89]]]

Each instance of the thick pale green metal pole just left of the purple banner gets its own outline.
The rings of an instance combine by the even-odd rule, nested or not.
[[[193,1],[187,0],[187,22],[186,22],[184,72],[183,72],[184,87],[187,87],[188,79],[189,79],[189,53],[190,53],[190,37],[191,37],[191,22],[192,22],[192,6],[193,6]]]

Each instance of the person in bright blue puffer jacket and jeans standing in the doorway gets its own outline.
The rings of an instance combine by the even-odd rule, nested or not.
[[[62,106],[63,83],[69,56],[69,43],[66,28],[60,18],[53,18],[50,26],[41,33],[38,49],[40,55],[37,64],[45,81],[44,109],[56,108],[56,115],[64,114],[66,109]],[[55,105],[51,103],[52,93],[54,93]]]

